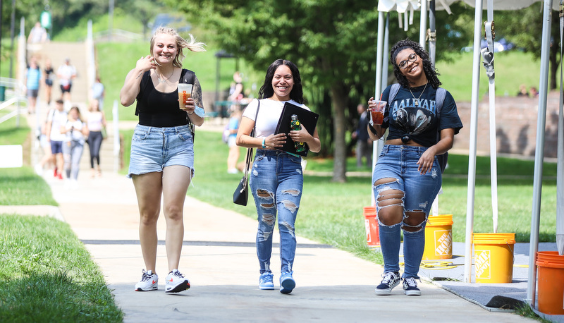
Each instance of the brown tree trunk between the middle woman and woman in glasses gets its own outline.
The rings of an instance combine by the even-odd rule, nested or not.
[[[340,84],[331,85],[331,102],[333,109],[333,138],[335,150],[333,153],[333,182],[345,183],[347,177],[347,145],[345,142],[345,107],[347,97]]]

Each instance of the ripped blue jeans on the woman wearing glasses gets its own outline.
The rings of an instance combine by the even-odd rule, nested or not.
[[[399,272],[401,231],[403,231],[403,278],[418,279],[425,248],[425,224],[433,201],[441,188],[442,176],[435,157],[431,171],[417,170],[419,157],[427,147],[385,145],[372,174],[372,188],[378,214],[379,237],[384,272]],[[391,213],[388,213],[391,212]],[[389,214],[403,214],[397,223]],[[387,219],[384,224],[382,219]]]

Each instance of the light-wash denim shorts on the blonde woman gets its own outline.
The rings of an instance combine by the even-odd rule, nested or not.
[[[137,125],[131,138],[128,178],[161,172],[166,166],[189,167],[194,176],[194,141],[190,127],[158,128]]]

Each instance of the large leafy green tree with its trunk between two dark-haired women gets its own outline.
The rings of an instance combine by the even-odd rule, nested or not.
[[[171,6],[176,1],[168,1]],[[333,181],[345,181],[347,107],[351,97],[365,101],[374,89],[377,12],[369,1],[196,0],[177,4],[190,20],[214,30],[226,51],[257,71],[278,58],[300,67],[308,104],[331,98]],[[354,102],[357,104],[358,102]],[[324,116],[327,117],[327,116]],[[324,142],[330,145],[330,142]]]

